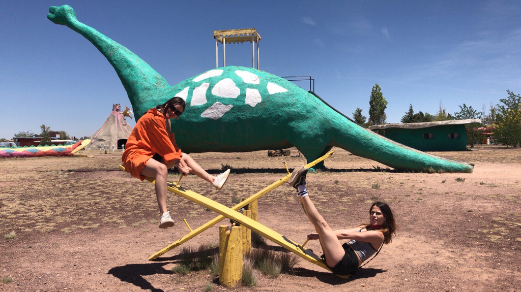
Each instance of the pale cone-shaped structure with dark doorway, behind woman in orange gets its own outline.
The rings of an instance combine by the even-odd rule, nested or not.
[[[85,149],[98,150],[101,147],[102,150],[112,151],[113,145],[114,149],[121,149],[121,141],[128,139],[132,131],[132,127],[125,120],[125,116],[132,118],[128,113],[128,109],[121,113],[121,105],[119,103],[113,104],[112,112],[108,116],[107,121],[92,135],[92,142]],[[119,143],[118,140],[120,141]]]

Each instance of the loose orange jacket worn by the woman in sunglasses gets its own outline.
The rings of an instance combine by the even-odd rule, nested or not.
[[[132,129],[121,162],[133,177],[144,180],[141,171],[156,153],[163,156],[166,163],[179,160],[182,156],[174,134],[167,132],[166,117],[153,108],[141,116]]]

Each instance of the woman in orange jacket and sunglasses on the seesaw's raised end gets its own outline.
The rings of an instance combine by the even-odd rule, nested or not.
[[[159,228],[174,225],[170,211],[166,207],[168,169],[177,166],[183,175],[194,175],[212,183],[220,190],[228,179],[230,169],[218,176],[208,174],[190,155],[177,147],[174,134],[170,130],[170,119],[179,118],[185,108],[180,97],[174,97],[164,104],[148,110],[135,124],[125,145],[121,161],[133,177],[144,180],[155,178],[155,192],[159,211]]]

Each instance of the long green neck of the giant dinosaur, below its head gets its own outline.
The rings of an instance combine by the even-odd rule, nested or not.
[[[147,104],[151,97],[162,95],[170,87],[163,76],[125,46],[79,21],[67,26],[88,39],[107,58],[125,87],[138,117],[156,105]],[[143,104],[145,107],[141,109]]]

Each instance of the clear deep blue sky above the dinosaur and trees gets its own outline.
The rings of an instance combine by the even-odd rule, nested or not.
[[[214,30],[256,28],[261,70],[311,75],[315,92],[350,117],[356,108],[368,116],[375,84],[388,123],[409,104],[431,114],[440,103],[448,113],[463,103],[488,112],[506,90],[521,94],[518,1],[2,1],[0,138],[38,134],[42,124],[91,136],[113,103],[130,107],[105,57],[47,19],[49,6],[63,4],[170,85],[215,68]],[[251,47],[227,45],[226,64],[250,67]]]

